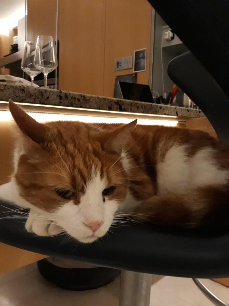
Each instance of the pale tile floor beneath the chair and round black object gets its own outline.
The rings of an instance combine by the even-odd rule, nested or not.
[[[153,276],[150,306],[212,306],[188,278]],[[47,282],[34,264],[0,275],[1,306],[118,306],[119,282],[89,291],[60,289]],[[204,284],[229,303],[229,288],[208,279]]]

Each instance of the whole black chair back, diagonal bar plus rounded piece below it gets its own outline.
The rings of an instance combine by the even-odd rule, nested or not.
[[[170,78],[229,143],[229,1],[148,0],[191,51],[169,63]]]

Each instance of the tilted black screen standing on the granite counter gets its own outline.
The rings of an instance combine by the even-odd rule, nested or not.
[[[125,100],[154,103],[149,85],[119,81],[119,86]]]

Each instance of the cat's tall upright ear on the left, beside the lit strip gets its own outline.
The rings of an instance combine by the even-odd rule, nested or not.
[[[19,129],[37,144],[45,142],[47,127],[37,122],[13,101],[9,101],[9,110]]]

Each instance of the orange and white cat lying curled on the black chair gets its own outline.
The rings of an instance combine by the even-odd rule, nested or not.
[[[27,231],[64,230],[89,243],[122,212],[163,225],[228,225],[229,147],[207,133],[137,120],[41,124],[13,102],[9,109],[19,129],[0,198],[30,208]]]

